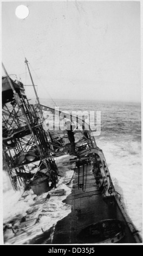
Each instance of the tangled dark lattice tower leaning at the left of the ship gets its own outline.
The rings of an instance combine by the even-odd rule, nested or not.
[[[27,187],[37,168],[44,169],[38,174],[48,175],[55,185],[57,167],[50,137],[42,129],[40,109],[29,103],[21,82],[8,76],[2,78],[2,104],[3,159],[14,190]]]

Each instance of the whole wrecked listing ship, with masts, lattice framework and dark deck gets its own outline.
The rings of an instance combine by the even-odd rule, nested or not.
[[[28,66],[27,59],[25,63]],[[105,156],[90,126],[85,120],[41,105],[37,93],[37,104],[30,104],[23,83],[12,80],[4,71],[3,162],[14,190],[21,186],[28,190],[37,179],[48,180],[45,192],[56,188],[60,173],[55,159],[69,153],[65,132],[43,129],[43,111],[59,114],[83,129],[75,133],[76,156],[69,160],[75,163],[72,194],[66,199],[72,212],[55,225],[53,243],[140,243],[141,237],[115,191]],[[35,90],[32,77],[31,82]],[[51,232],[32,242],[50,243]]]

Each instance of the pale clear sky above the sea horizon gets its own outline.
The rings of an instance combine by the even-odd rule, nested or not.
[[[2,61],[31,84],[25,57],[40,98],[140,102],[140,2],[3,2]]]

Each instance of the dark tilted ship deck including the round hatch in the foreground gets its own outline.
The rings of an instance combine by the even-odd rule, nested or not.
[[[76,168],[72,193],[65,200],[71,213],[31,244],[140,243],[141,238],[118,196],[103,198],[90,164]],[[84,182],[79,185],[79,179]],[[51,239],[52,237],[52,239]]]

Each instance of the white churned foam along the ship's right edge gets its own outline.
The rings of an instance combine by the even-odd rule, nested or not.
[[[106,141],[99,139],[111,173],[115,190],[137,230],[142,230],[142,180],[140,144],[133,141]],[[134,154],[131,154],[134,153]]]

